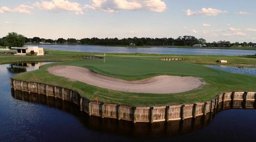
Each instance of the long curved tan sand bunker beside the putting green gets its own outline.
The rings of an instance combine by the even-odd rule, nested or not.
[[[76,66],[54,66],[48,68],[53,75],[63,76],[72,81],[80,81],[86,84],[133,93],[169,94],[180,93],[200,87],[203,82],[197,77],[180,77],[161,75],[140,81],[124,81],[93,72],[90,69]]]

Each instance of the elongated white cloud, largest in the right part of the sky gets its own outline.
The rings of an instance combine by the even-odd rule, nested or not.
[[[187,16],[192,16],[192,15],[217,16],[222,13],[227,13],[227,11],[217,10],[214,8],[202,8],[201,11],[191,11],[188,9],[186,12],[187,12]]]

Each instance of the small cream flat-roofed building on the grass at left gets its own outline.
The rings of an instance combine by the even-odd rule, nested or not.
[[[16,54],[14,55],[26,55],[31,51],[37,52],[36,56],[44,55],[44,49],[39,48],[37,46],[29,46],[29,47],[12,47],[11,49],[16,49]]]

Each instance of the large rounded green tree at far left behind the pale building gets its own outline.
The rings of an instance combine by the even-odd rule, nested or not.
[[[25,37],[21,34],[10,32],[4,38],[4,45],[8,47],[22,47],[25,44]]]

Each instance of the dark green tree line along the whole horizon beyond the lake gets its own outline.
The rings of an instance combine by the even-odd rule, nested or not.
[[[82,45],[101,45],[101,46],[193,46],[195,44],[202,44],[207,47],[231,47],[231,46],[243,46],[253,47],[256,43],[252,42],[235,42],[218,41],[218,42],[206,42],[205,39],[197,39],[194,36],[180,36],[174,38],[58,38],[58,39],[44,39],[39,37],[27,38],[21,34],[11,32],[6,37],[0,39],[0,46],[9,47],[22,47],[25,43],[56,43],[56,44],[82,44]]]

